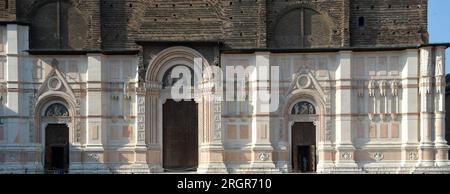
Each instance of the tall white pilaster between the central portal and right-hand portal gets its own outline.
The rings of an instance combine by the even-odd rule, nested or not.
[[[255,71],[250,75],[252,118],[252,171],[275,170],[270,137],[270,108],[264,99],[270,94],[270,53],[255,53]]]

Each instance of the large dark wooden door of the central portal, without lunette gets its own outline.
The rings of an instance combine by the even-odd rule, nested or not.
[[[198,166],[198,111],[194,101],[163,105],[163,168],[193,171]]]

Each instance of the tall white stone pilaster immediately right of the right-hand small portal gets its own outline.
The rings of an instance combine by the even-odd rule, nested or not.
[[[352,82],[350,51],[339,53],[336,70],[336,167],[343,171],[355,171],[355,147],[352,143]]]

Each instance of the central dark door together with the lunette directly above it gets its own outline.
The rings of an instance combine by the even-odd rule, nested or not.
[[[198,105],[193,98],[194,70],[182,61],[173,63],[164,73],[163,168],[165,171],[195,171],[198,166]],[[174,76],[175,75],[175,76]],[[176,85],[187,90],[184,100],[177,99]],[[181,97],[183,95],[180,95]]]

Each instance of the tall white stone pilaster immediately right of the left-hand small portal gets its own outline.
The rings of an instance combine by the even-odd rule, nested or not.
[[[87,55],[87,94],[86,94],[86,146],[83,154],[84,170],[86,172],[104,172],[105,154],[103,144],[106,143],[106,124],[102,117],[105,111],[103,84],[103,56],[100,53]],[[108,171],[106,171],[108,172]]]

